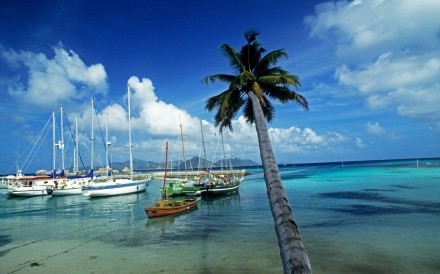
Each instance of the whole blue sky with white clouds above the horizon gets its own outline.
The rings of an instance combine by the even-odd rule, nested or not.
[[[221,157],[204,103],[226,87],[201,79],[231,72],[219,47],[240,48],[248,29],[260,32],[267,50],[287,52],[280,65],[300,77],[298,92],[310,103],[309,112],[275,104],[269,131],[278,162],[440,155],[439,1],[6,0],[0,7],[0,172],[51,168],[52,132],[37,139],[61,106],[72,128],[78,118],[89,165],[91,98],[102,127],[108,117],[112,161],[127,160],[127,84],[134,158],[163,161],[165,141],[170,157],[182,157],[180,124],[186,157],[200,155],[200,121],[207,158]],[[57,140],[59,127],[57,114]],[[66,122],[64,129],[71,166]],[[99,138],[95,166],[103,162]],[[260,162],[255,130],[240,116],[224,144],[227,154]]]

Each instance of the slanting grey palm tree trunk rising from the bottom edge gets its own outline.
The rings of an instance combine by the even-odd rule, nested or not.
[[[261,105],[253,92],[248,92],[248,96],[252,101],[264,180],[275,222],[284,273],[312,273],[309,257],[301,241],[298,226],[293,218],[293,212],[281,182]]]

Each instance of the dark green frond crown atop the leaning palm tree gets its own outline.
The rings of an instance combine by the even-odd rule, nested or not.
[[[214,120],[220,130],[226,127],[233,130],[232,119],[241,108],[246,121],[251,124],[255,122],[252,103],[246,98],[249,92],[253,92],[258,98],[268,122],[272,121],[275,113],[268,98],[284,104],[293,101],[304,110],[309,108],[306,98],[291,89],[300,86],[298,76],[276,66],[280,58],[287,58],[287,53],[279,49],[263,56],[266,50],[256,40],[257,35],[258,32],[255,31],[246,32],[247,44],[240,51],[227,44],[220,47],[236,75],[213,74],[203,79],[205,83],[220,81],[229,85],[227,90],[209,98],[206,102],[208,111],[217,109]]]

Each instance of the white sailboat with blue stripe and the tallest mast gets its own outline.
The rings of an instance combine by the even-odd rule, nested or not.
[[[86,197],[107,197],[123,194],[132,194],[143,192],[147,189],[148,182],[151,180],[149,177],[145,178],[133,178],[133,154],[131,145],[131,107],[130,107],[130,87],[127,86],[128,94],[128,141],[130,151],[130,177],[129,178],[115,178],[108,176],[110,173],[108,163],[108,147],[111,143],[108,141],[108,133],[106,129],[106,168],[107,177],[104,181],[99,181],[96,178],[88,185],[82,188],[83,195]],[[106,126],[107,128],[107,126]]]

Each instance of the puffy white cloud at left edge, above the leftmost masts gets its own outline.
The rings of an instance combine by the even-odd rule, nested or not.
[[[53,47],[50,58],[43,53],[0,49],[2,59],[17,71],[14,82],[7,83],[8,94],[28,106],[51,109],[108,91],[104,66],[87,66],[72,50]],[[25,79],[21,79],[23,75]]]

